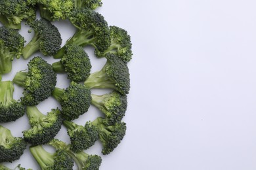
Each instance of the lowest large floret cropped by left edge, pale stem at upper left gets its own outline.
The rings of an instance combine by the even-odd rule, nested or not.
[[[0,162],[20,159],[27,143],[21,137],[13,137],[9,129],[0,126]]]

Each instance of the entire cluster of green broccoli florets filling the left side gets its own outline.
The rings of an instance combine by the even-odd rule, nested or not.
[[[123,140],[126,124],[130,75],[127,63],[132,58],[130,35],[125,29],[110,26],[102,14],[95,11],[101,0],[3,0],[0,2],[0,124],[28,117],[30,127],[23,137],[14,137],[0,125],[0,163],[18,160],[29,146],[41,169],[97,170],[102,158],[87,154],[96,141],[102,143],[102,154],[110,154]],[[40,18],[36,17],[40,14]],[[69,20],[76,31],[61,46],[62,38],[54,22]],[[20,35],[22,22],[30,26],[32,39]],[[99,71],[91,73],[91,61],[85,46],[95,49],[96,58],[105,58]],[[34,56],[36,52],[40,55]],[[2,76],[12,71],[14,59],[30,59],[27,69],[16,73],[12,80]],[[48,63],[47,58],[56,59]],[[56,87],[57,74],[66,74],[70,84]],[[23,88],[22,97],[15,99],[14,84]],[[102,95],[93,89],[112,90]],[[37,105],[54,97],[60,108],[41,112]],[[93,105],[100,112],[95,120],[76,124],[75,119]],[[70,143],[56,139],[62,125]],[[45,145],[55,152],[47,152]],[[0,164],[0,169],[9,169]],[[26,170],[20,165],[16,169]]]

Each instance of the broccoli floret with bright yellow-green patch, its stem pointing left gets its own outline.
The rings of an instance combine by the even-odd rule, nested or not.
[[[28,72],[20,71],[13,82],[24,87],[23,105],[37,105],[47,99],[56,85],[56,73],[51,64],[41,57],[35,57],[28,63]]]

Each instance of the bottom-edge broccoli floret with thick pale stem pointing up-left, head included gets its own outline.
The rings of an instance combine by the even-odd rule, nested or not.
[[[42,170],[72,170],[74,160],[64,150],[56,150],[56,152],[49,153],[43,146],[30,146],[30,152],[33,158],[37,161]]]

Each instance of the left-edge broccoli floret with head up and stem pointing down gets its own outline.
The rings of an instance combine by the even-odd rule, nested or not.
[[[0,27],[0,75],[11,72],[12,61],[20,58],[24,42],[24,37],[18,31]]]

